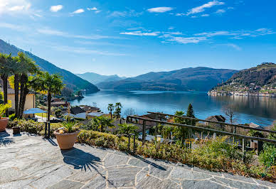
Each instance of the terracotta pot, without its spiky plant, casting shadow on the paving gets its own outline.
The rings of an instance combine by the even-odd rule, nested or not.
[[[79,132],[80,131],[75,131],[74,133],[60,134],[58,131],[55,131],[53,134],[55,134],[60,149],[68,150],[70,148],[73,148],[75,141],[77,141]]]

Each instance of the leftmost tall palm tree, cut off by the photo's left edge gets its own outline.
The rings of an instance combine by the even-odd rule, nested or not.
[[[0,77],[3,81],[4,104],[8,103],[8,77],[11,75],[11,64],[11,54],[0,54]],[[6,114],[8,115],[8,112]]]

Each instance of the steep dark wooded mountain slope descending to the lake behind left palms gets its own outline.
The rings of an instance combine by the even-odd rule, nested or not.
[[[66,87],[72,90],[86,90],[87,93],[99,91],[95,85],[92,85],[90,82],[87,82],[77,75],[74,75],[72,72],[58,68],[52,63],[49,63],[47,60],[43,60],[42,58],[39,58],[28,51],[21,50],[20,48],[17,48],[14,45],[10,45],[9,43],[6,43],[0,39],[0,53],[11,53],[11,55],[16,56],[20,51],[26,53],[26,55],[33,59],[33,61],[36,62],[36,65],[38,65],[42,70],[51,74],[59,73],[62,75],[63,83],[66,85]]]

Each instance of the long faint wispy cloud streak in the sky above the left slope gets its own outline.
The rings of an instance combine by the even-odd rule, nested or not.
[[[38,33],[42,33],[44,35],[49,36],[62,36],[65,38],[80,38],[80,39],[90,39],[90,40],[96,40],[96,39],[102,39],[102,38],[111,38],[110,36],[100,36],[100,35],[91,35],[91,36],[83,36],[83,35],[73,35],[70,33],[66,33],[63,31],[57,31],[50,28],[39,28],[37,29]]]

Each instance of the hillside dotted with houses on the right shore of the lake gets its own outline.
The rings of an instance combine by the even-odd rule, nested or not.
[[[262,63],[254,68],[240,70],[211,92],[276,93],[276,64]]]

